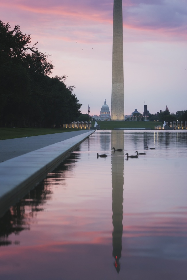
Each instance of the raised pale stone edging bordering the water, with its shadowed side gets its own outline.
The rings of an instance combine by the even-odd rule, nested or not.
[[[1,162],[0,216],[92,133],[93,130]]]

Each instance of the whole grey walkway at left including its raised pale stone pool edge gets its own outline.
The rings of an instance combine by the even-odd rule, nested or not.
[[[53,170],[92,130],[0,141],[0,216]]]

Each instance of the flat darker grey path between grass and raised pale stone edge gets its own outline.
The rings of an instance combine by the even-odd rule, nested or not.
[[[88,130],[85,129],[63,133],[31,136],[28,138],[24,137],[0,140],[0,162],[24,155],[28,152],[41,149],[57,142],[70,139],[74,136],[81,135],[86,132],[88,132]]]

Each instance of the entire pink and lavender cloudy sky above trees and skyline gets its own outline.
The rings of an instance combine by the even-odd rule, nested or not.
[[[51,54],[82,113],[111,110],[112,0],[1,0],[0,20]],[[125,115],[187,110],[187,0],[123,0]]]

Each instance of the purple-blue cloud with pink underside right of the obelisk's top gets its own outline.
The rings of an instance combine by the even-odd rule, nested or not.
[[[123,8],[126,26],[148,30],[178,32],[187,29],[187,5],[182,1],[140,1]]]

